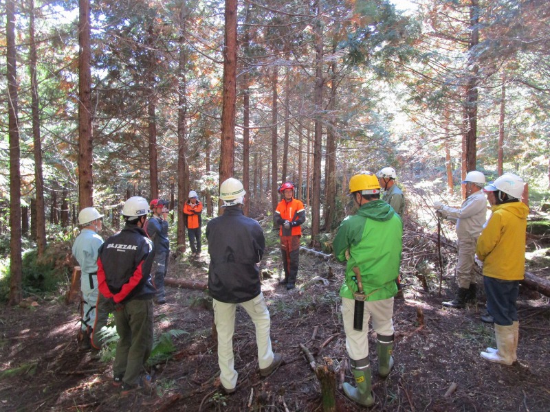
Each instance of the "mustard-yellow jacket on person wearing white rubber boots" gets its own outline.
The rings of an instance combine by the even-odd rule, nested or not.
[[[521,280],[525,275],[525,236],[529,207],[512,202],[494,205],[493,214],[477,240],[476,255],[483,276]]]

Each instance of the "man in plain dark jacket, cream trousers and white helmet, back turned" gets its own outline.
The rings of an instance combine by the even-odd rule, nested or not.
[[[283,361],[283,356],[272,350],[270,312],[261,291],[258,263],[265,249],[263,230],[256,220],[244,216],[245,194],[243,184],[237,179],[221,183],[219,198],[223,201],[223,215],[206,225],[210,254],[208,290],[213,298],[218,333],[220,381],[226,393],[235,391],[238,376],[233,357],[237,304],[243,306],[256,327],[261,376],[269,376]]]

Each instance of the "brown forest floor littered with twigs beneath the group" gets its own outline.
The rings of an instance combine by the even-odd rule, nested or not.
[[[30,308],[0,307],[0,410],[322,411],[320,383],[300,344],[317,365],[333,363],[338,411],[361,410],[342,391],[342,381],[352,382],[338,297],[344,266],[302,253],[298,288],[287,291],[278,286],[276,233],[268,230],[266,236],[271,246],[261,268],[273,275],[263,278],[262,289],[272,319],[272,345],[284,356],[271,376],[259,374],[254,327],[238,309],[234,354],[239,381],[236,392],[226,395],[217,379],[213,315],[205,293],[168,287],[168,304],[155,306],[155,336],[170,330],[186,333],[173,338],[176,351],[170,360],[151,370],[155,391],[122,397],[112,385],[112,360],[93,360],[78,347],[78,305],[65,305],[63,297],[39,299],[38,306]],[[431,247],[429,258],[436,256],[434,250]],[[444,280],[440,296],[437,275],[419,275],[413,270],[419,265],[411,268],[406,253],[404,299],[395,300],[395,367],[386,380],[377,376],[375,334],[369,332],[376,402],[371,410],[548,411],[549,299],[522,289],[518,361],[511,366],[489,363],[479,356],[495,345],[493,325],[480,320],[483,304],[443,308],[441,302],[454,294],[454,277]],[[446,252],[445,259],[452,265],[454,255]],[[206,282],[207,270],[203,251],[199,259],[186,256],[171,262],[168,277]],[[538,274],[550,276],[548,267]],[[328,284],[313,282],[303,288],[316,276]],[[426,280],[428,290],[419,279]],[[483,291],[478,298],[484,300]],[[445,396],[452,383],[456,390]]]

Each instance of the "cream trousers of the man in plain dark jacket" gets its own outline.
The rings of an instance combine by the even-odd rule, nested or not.
[[[270,312],[265,306],[263,294],[260,293],[241,305],[256,327],[256,345],[258,346],[258,363],[260,369],[269,367],[273,362],[273,350],[270,338]],[[218,332],[218,365],[221,371],[221,385],[225,389],[236,387],[239,376],[234,368],[233,334],[235,330],[235,309],[237,304],[225,304],[213,299],[214,323]]]

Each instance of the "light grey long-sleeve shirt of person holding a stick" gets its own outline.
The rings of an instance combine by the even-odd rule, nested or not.
[[[481,190],[470,194],[460,209],[443,206],[441,216],[456,220],[456,236],[459,238],[478,238],[487,216],[487,199]]]

